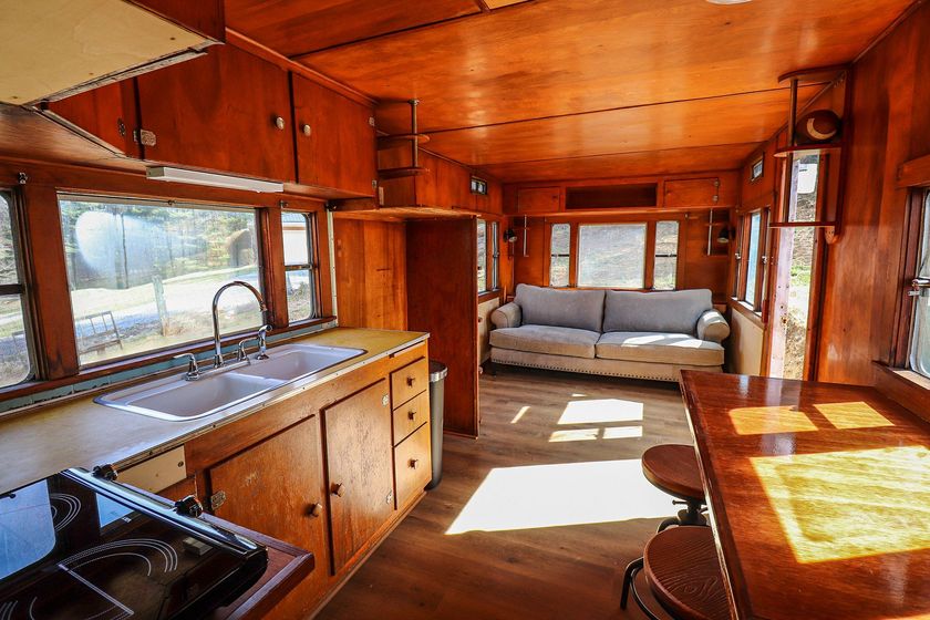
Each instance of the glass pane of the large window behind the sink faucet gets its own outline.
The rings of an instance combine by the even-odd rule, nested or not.
[[[60,196],[71,308],[82,365],[213,337],[217,289],[261,290],[252,209]],[[244,288],[220,301],[220,331],[257,328]]]

